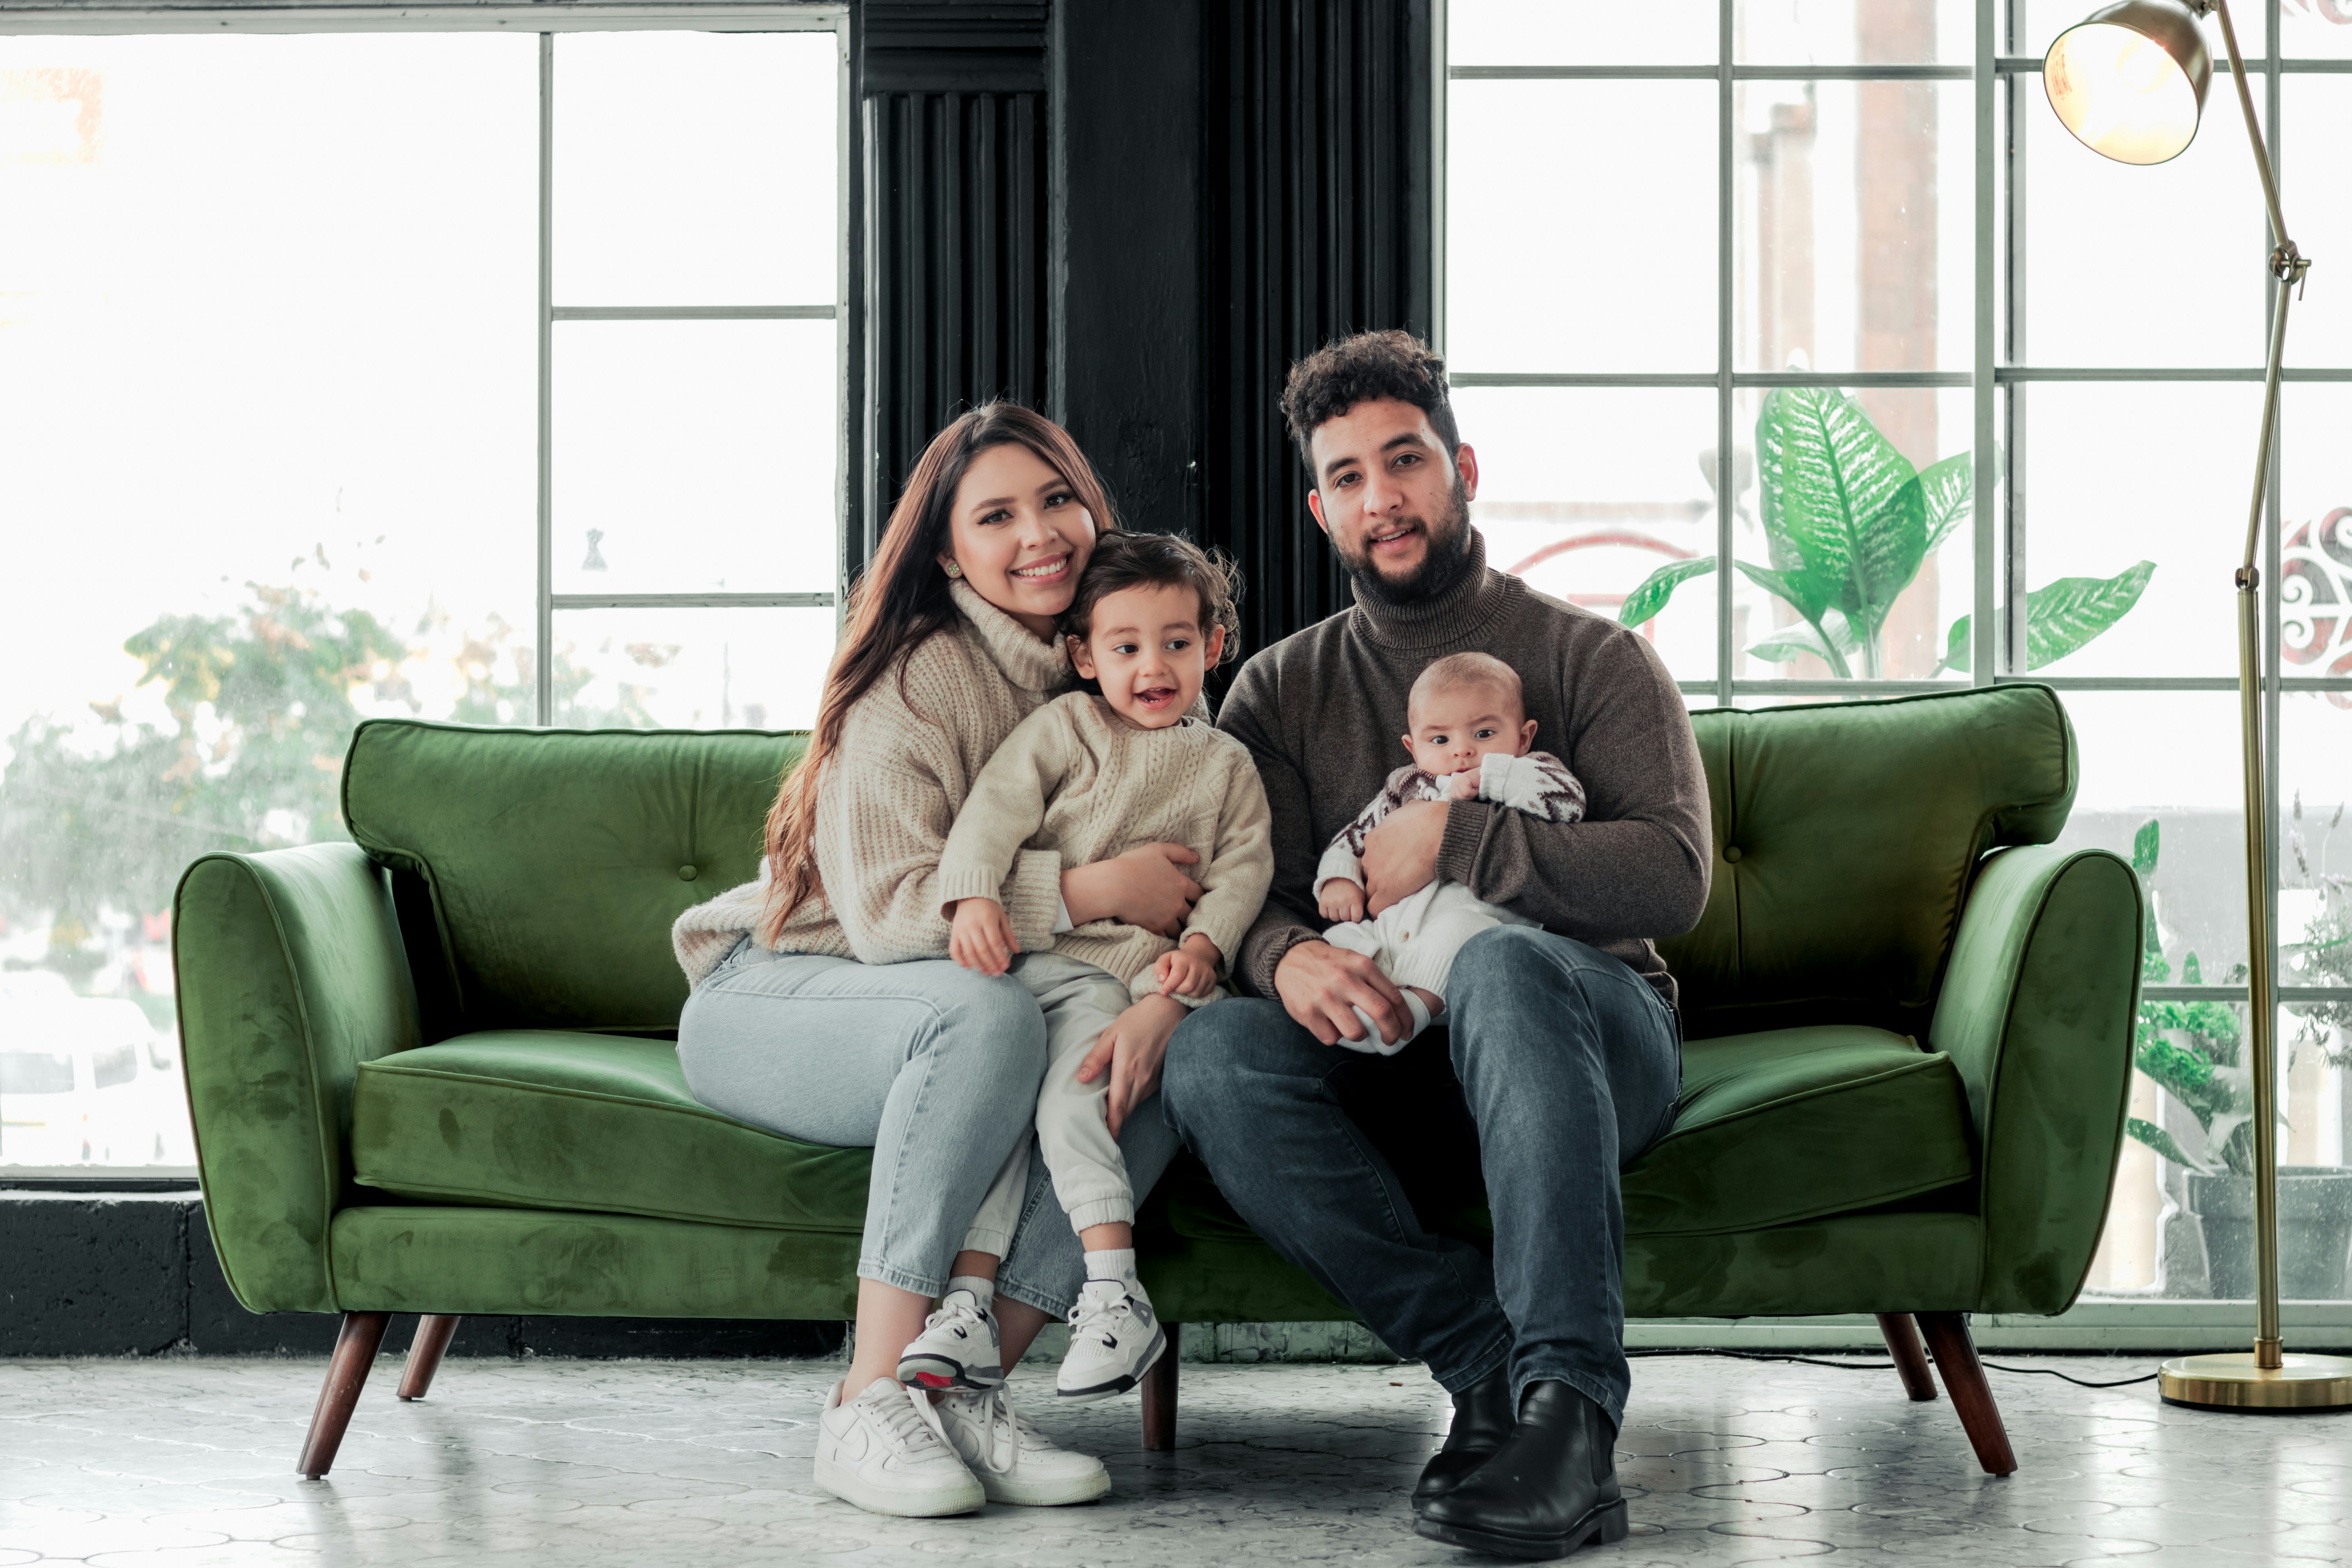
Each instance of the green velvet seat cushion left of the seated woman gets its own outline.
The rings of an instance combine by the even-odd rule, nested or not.
[[[873,1150],[764,1133],[687,1093],[663,1039],[487,1030],[360,1065],[360,1182],[440,1204],[858,1232]]]

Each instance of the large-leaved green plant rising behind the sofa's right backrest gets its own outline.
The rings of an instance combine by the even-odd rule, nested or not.
[[[1919,567],[1969,520],[1976,468],[1966,451],[1926,470],[1896,451],[1863,404],[1828,386],[1783,386],[1757,411],[1757,503],[1771,567],[1733,559],[1792,611],[1750,658],[1820,658],[1839,679],[1886,675],[1886,616]],[[1625,595],[1618,621],[1642,625],[1675,588],[1715,571],[1712,555],[1668,562]],[[2058,578],[2025,595],[2025,665],[2039,670],[2124,618],[2154,562],[2112,578]],[[1969,670],[1969,616],[1945,637],[1943,668]]]

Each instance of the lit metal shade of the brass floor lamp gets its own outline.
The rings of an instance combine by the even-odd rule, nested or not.
[[[2077,141],[2117,162],[2166,162],[2197,136],[2213,82],[2197,14],[2180,0],[2122,0],[2058,35],[2042,89]]]

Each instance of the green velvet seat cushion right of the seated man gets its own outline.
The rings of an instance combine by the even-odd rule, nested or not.
[[[1625,1171],[1625,1234],[1708,1237],[1877,1208],[1976,1171],[1952,1058],[1884,1030],[1825,1025],[1682,1048],[1675,1131]],[[1399,1171],[1411,1185],[1411,1171]],[[1249,1237],[1209,1173],[1181,1159],[1155,1213],[1202,1241]],[[1484,1208],[1423,1215],[1484,1237]]]

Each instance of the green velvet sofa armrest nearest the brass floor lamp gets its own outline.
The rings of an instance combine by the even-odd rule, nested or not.
[[[1929,1027],[1969,1086],[1978,1312],[2065,1312],[2098,1251],[2140,1004],[2140,879],[2103,849],[2009,849],[1976,877]]]

